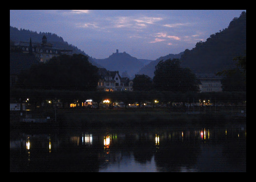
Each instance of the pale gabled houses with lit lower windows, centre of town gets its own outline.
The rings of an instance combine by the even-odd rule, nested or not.
[[[132,91],[132,80],[121,78],[118,71],[107,71],[105,68],[99,68],[98,74],[97,90],[106,92]]]

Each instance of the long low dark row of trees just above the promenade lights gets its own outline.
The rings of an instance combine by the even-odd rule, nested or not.
[[[170,91],[133,91],[133,92],[98,92],[98,91],[68,91],[68,90],[35,90],[35,89],[10,89],[10,98],[16,101],[30,99],[31,103],[44,102],[45,100],[61,100],[62,103],[85,102],[92,99],[100,103],[104,99],[111,102],[154,103],[158,100],[162,104],[168,103],[198,103],[199,100],[210,100],[212,103],[243,103],[246,101],[246,92],[207,92],[207,93],[173,93]]]

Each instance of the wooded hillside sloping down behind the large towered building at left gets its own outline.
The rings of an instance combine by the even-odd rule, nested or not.
[[[32,39],[32,42],[34,43],[41,43],[42,42],[42,37],[45,35],[47,37],[47,42],[53,44],[53,48],[57,49],[67,49],[67,50],[72,50],[72,53],[81,53],[83,55],[88,56],[89,61],[99,67],[102,68],[101,65],[96,64],[94,59],[86,54],[84,51],[81,51],[78,49],[76,46],[72,44],[68,44],[63,40],[62,37],[58,36],[55,33],[49,33],[49,32],[39,32],[37,33],[36,31],[31,31],[31,30],[26,30],[26,29],[18,29],[16,27],[10,26],[10,41],[13,42],[30,42],[30,38]]]

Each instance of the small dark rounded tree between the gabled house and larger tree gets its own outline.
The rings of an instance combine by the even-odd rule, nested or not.
[[[153,86],[153,81],[147,75],[135,75],[133,78],[132,89],[134,91],[150,91]]]

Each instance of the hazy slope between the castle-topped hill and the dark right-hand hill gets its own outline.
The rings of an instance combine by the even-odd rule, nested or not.
[[[145,65],[143,68],[141,68],[139,70],[139,72],[137,74],[139,75],[147,75],[150,78],[153,78],[155,76],[154,72],[155,72],[155,67],[157,66],[157,64],[159,63],[159,61],[161,60],[167,60],[167,59],[179,59],[181,58],[181,55],[183,54],[183,52],[180,52],[178,54],[168,54],[165,56],[161,56],[160,58],[156,59],[155,61],[151,61],[149,64]]]

